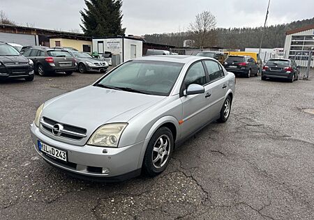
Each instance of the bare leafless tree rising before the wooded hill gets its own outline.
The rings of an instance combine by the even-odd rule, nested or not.
[[[216,43],[214,31],[216,24],[216,17],[209,10],[195,16],[195,22],[190,23],[188,32],[195,40],[197,47],[206,47]]]

